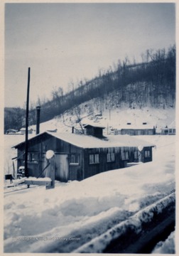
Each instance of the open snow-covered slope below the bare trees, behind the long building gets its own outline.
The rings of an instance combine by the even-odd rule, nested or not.
[[[97,102],[96,102],[97,103]],[[48,122],[40,124],[40,132],[45,130],[58,129],[58,132],[71,132],[72,126],[79,129],[77,124],[77,119],[82,119],[83,124],[96,123],[102,124],[106,129],[104,133],[110,132],[110,129],[121,129],[126,126],[127,122],[131,122],[136,127],[141,126],[143,122],[147,122],[148,126],[157,127],[156,131],[161,132],[161,128],[170,126],[170,124],[175,121],[175,109],[168,108],[154,109],[151,107],[144,107],[143,109],[130,109],[129,107],[115,108],[111,110],[103,110],[102,115],[98,108],[94,107],[91,110],[91,106],[94,105],[94,100],[80,105],[80,109],[77,110],[79,114],[75,114],[75,110],[69,110],[60,115],[60,117],[55,117]],[[36,129],[33,125],[31,128]]]

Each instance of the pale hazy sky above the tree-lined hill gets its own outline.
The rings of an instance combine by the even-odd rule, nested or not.
[[[147,49],[175,43],[175,4],[6,4],[5,107],[50,98]]]

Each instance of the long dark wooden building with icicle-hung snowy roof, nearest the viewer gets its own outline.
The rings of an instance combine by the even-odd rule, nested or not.
[[[101,137],[101,132],[97,135]],[[28,139],[28,176],[47,176],[50,167],[45,153],[48,150],[55,153],[55,180],[67,182],[124,168],[128,162],[152,161],[153,146],[129,135],[99,139],[85,134],[43,132]],[[17,167],[23,166],[25,142],[13,147],[17,149]]]

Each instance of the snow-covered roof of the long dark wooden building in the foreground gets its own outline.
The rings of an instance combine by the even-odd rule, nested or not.
[[[42,134],[50,134],[51,136],[62,139],[65,142],[68,142],[74,146],[78,146],[84,149],[93,149],[93,148],[109,148],[109,147],[119,147],[119,146],[155,146],[154,144],[144,142],[141,139],[136,137],[131,137],[130,135],[109,135],[106,139],[98,139],[97,137],[85,135],[85,134],[72,134],[72,133],[52,133],[52,132],[43,132],[41,134],[32,137],[29,140],[32,140],[36,137],[40,137]],[[24,142],[17,144],[13,147],[18,147]]]

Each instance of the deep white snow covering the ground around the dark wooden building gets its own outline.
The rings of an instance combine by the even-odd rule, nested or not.
[[[12,136],[5,137],[9,146],[16,144]],[[4,189],[4,252],[74,251],[168,196],[175,189],[175,136],[138,138],[156,144],[152,162],[84,181],[56,182],[51,190],[25,185],[22,191]],[[170,240],[174,245],[174,235]]]

